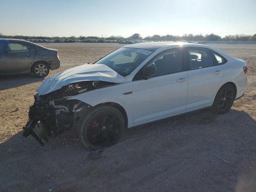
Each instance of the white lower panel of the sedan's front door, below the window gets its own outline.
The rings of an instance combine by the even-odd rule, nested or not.
[[[177,82],[185,78],[183,82]],[[134,124],[184,112],[188,95],[188,72],[132,82]]]

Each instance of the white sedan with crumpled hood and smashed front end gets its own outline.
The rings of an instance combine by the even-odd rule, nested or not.
[[[127,45],[45,80],[23,135],[43,145],[75,127],[93,150],[115,144],[125,128],[202,108],[223,114],[244,95],[247,70],[245,61],[200,44]]]

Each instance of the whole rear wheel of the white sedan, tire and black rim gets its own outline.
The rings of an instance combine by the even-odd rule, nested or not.
[[[211,111],[224,114],[230,110],[235,99],[234,87],[230,84],[223,85],[216,94]]]

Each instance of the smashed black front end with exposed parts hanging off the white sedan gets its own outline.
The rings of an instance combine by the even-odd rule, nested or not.
[[[48,141],[48,136],[59,135],[72,127],[73,108],[78,105],[77,100],[63,99],[42,99],[38,94],[34,96],[35,102],[29,108],[29,120],[23,127],[22,135],[28,137],[32,135],[41,146],[44,146],[42,139]],[[74,109],[76,110],[76,109]],[[40,129],[39,135],[34,132],[34,128]]]

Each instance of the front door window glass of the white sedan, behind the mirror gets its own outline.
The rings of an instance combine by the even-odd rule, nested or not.
[[[156,74],[161,76],[181,72],[183,70],[183,55],[181,49],[171,49],[160,53],[149,64],[156,66]],[[154,77],[153,76],[153,77]]]

